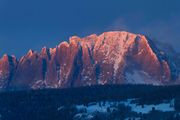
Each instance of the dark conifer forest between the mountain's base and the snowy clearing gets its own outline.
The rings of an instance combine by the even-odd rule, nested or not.
[[[77,112],[74,105],[130,98],[138,98],[138,103],[142,105],[175,99],[175,109],[180,111],[180,86],[105,85],[1,92],[0,119],[68,120],[73,119],[73,115]],[[66,108],[58,111],[60,106]]]

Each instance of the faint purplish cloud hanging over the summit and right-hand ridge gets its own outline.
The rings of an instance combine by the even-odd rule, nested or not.
[[[138,19],[139,21],[138,21]],[[143,21],[144,23],[141,23]],[[147,35],[151,39],[168,43],[180,52],[180,16],[174,15],[168,19],[154,18],[147,21],[143,16],[131,18],[117,18],[107,28],[109,30],[128,31]]]

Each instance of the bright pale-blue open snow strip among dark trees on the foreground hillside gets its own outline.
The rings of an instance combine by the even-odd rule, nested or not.
[[[169,102],[161,103],[161,104],[150,104],[150,105],[138,105],[137,103],[132,102],[134,99],[127,99],[126,101],[120,102],[99,102],[99,103],[90,103],[88,106],[85,105],[77,105],[76,108],[78,110],[86,110],[87,113],[94,113],[94,112],[107,112],[109,108],[111,111],[117,109],[119,104],[128,106],[131,108],[131,111],[136,113],[143,113],[147,114],[151,112],[153,109],[162,111],[162,112],[169,112],[175,111],[174,109],[174,99]]]

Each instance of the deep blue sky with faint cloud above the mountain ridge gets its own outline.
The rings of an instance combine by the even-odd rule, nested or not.
[[[179,0],[0,0],[0,56],[105,31],[144,34],[180,52],[179,6]]]

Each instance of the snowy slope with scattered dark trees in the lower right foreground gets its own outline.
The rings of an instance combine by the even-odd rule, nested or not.
[[[87,105],[75,105],[77,113],[73,116],[74,120],[93,120],[97,116],[103,116],[102,119],[117,118],[129,119],[142,119],[142,115],[149,115],[154,113],[174,113],[176,115],[174,99],[161,102],[159,104],[138,104],[136,99],[127,99],[124,101],[99,101],[89,103]],[[65,106],[60,106],[57,111],[63,111]],[[118,113],[118,114],[117,114]],[[178,112],[177,112],[178,113]],[[117,114],[117,116],[116,116]],[[111,117],[110,117],[111,116]],[[154,116],[158,118],[158,116]],[[161,117],[162,118],[162,117]]]

